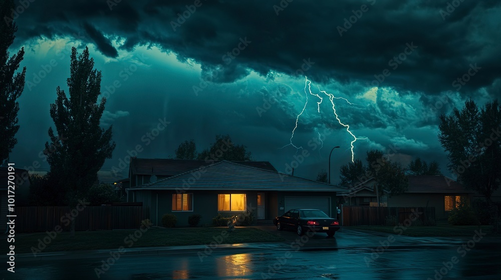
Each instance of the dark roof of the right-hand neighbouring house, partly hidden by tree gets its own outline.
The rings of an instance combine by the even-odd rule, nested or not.
[[[474,193],[461,183],[442,175],[408,175],[409,186],[405,193]],[[373,190],[373,185],[367,185],[374,178],[369,178],[346,192],[337,195],[354,195],[362,189]]]

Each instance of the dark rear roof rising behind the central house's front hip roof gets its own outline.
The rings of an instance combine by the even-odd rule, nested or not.
[[[277,171],[268,161],[231,161],[247,166]],[[212,164],[212,161],[191,159],[165,159],[165,158],[137,158],[133,156],[130,161],[132,174],[174,176],[191,171],[202,166]]]

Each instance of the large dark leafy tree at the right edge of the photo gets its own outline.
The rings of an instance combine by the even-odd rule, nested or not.
[[[485,196],[501,184],[501,105],[497,99],[482,108],[469,99],[461,110],[440,115],[438,139],[448,152],[449,170],[466,187]]]

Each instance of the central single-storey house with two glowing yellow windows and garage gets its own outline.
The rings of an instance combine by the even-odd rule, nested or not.
[[[218,213],[237,215],[254,210],[258,220],[271,220],[291,208],[319,208],[336,214],[336,191],[331,184],[282,174],[267,161],[146,159],[133,157],[129,168],[129,202],[150,208],[150,219],[161,225],[173,213],[177,225],[200,214],[211,224]]]

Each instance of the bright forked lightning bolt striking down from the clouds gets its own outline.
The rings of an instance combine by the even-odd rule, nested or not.
[[[332,110],[334,112],[334,115],[336,116],[336,119],[337,121],[339,122],[339,124],[343,125],[344,127],[346,127],[346,131],[348,131],[348,133],[350,133],[350,135],[353,137],[353,140],[350,142],[350,150],[351,150],[351,161],[352,162],[355,162],[354,161],[354,158],[355,158],[355,152],[353,151],[353,148],[355,148],[355,146],[353,145],[353,143],[355,143],[357,140],[364,140],[364,139],[367,139],[367,137],[365,138],[358,138],[357,136],[355,136],[355,134],[353,134],[353,132],[351,132],[350,130],[350,125],[349,124],[345,124],[343,122],[341,122],[341,119],[339,118],[339,115],[338,113],[336,112],[336,105],[334,104],[334,99],[343,99],[345,100],[348,104],[350,105],[354,105],[354,103],[348,101],[348,99],[344,98],[344,97],[336,97],[334,96],[334,94],[331,94],[331,93],[327,93],[325,90],[320,90],[320,87],[318,87],[318,93],[313,93],[312,90],[311,90],[311,80],[308,79],[307,76],[305,76],[305,94],[306,94],[306,102],[305,102],[305,106],[303,107],[303,110],[301,110],[301,112],[298,114],[298,116],[296,117],[296,126],[294,127],[294,129],[292,130],[292,135],[291,135],[291,138],[290,138],[290,143],[283,146],[282,148],[286,147],[286,146],[289,146],[289,145],[292,145],[293,147],[295,147],[297,150],[299,150],[300,148],[303,148],[302,146],[296,146],[293,144],[292,142],[292,138],[294,138],[294,132],[296,131],[296,128],[298,128],[298,121],[299,121],[299,117],[303,114],[303,112],[305,111],[306,109],[306,106],[308,104],[308,92],[311,94],[311,95],[315,95],[317,96],[320,101],[317,102],[317,111],[320,112],[320,104],[322,103],[322,101],[324,100],[324,98],[322,96],[320,96],[320,93],[324,93],[325,95],[329,96],[329,100],[331,101],[331,104],[332,104]],[[308,92],[306,91],[306,88],[308,87]],[[320,132],[318,132],[318,129],[317,129],[317,133],[319,135],[319,139],[320,141],[322,142],[322,147],[324,146],[324,142],[322,141],[322,139],[320,138]],[[322,148],[321,147],[321,148]],[[297,152],[296,150],[296,152]],[[320,149],[319,149],[319,152],[320,152]]]

